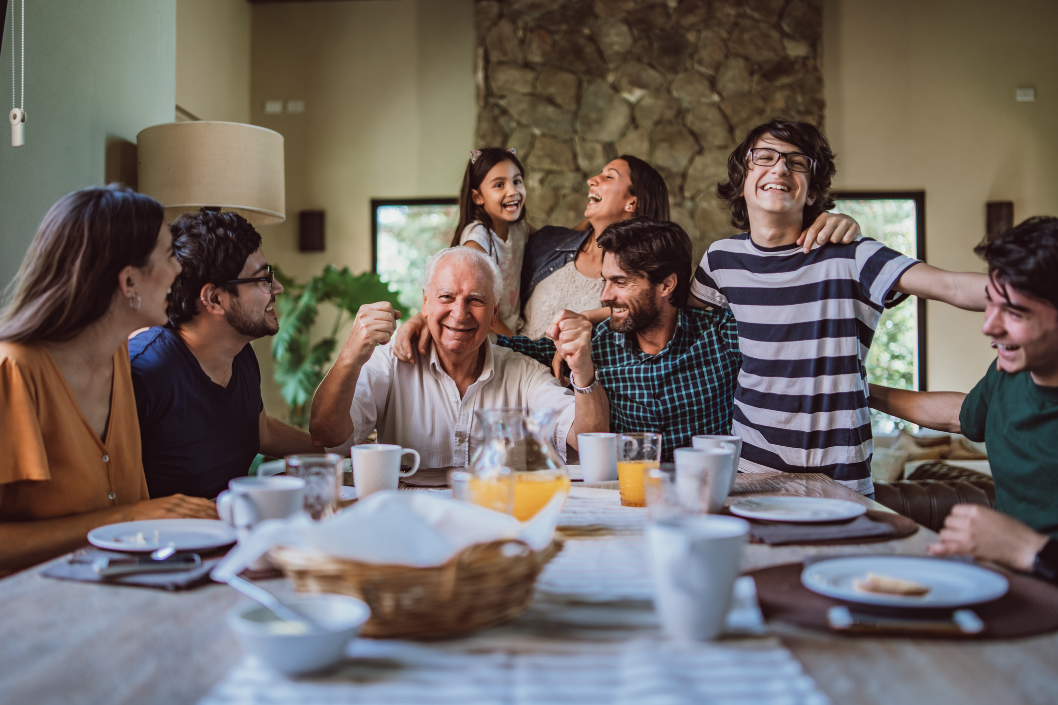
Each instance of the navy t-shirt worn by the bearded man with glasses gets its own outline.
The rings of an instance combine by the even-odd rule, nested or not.
[[[249,345],[221,387],[180,335],[151,328],[129,340],[143,469],[150,496],[213,499],[247,475],[260,449],[261,373]]]

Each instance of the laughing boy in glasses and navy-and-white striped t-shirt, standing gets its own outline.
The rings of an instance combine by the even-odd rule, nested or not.
[[[882,311],[909,295],[984,311],[987,277],[938,270],[870,238],[811,248],[801,233],[834,207],[835,171],[813,125],[774,119],[751,130],[717,187],[732,225],[749,231],[710,245],[691,303],[735,317],[741,468],[823,472],[871,495],[864,361]]]

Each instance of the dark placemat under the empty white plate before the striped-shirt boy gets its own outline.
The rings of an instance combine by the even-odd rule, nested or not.
[[[914,520],[875,509],[850,521],[826,523],[749,520],[750,542],[768,545],[874,543],[906,538],[917,531]]]

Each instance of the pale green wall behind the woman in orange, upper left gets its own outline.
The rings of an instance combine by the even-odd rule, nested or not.
[[[31,0],[25,146],[15,149],[6,120],[10,22],[8,8],[0,51],[0,286],[59,197],[108,180],[134,182],[135,135],[172,122],[176,92],[174,0]]]

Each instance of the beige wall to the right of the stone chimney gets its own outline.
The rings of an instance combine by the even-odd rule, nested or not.
[[[985,203],[1058,215],[1058,3],[825,0],[826,132],[839,189],[926,191],[927,261],[985,271]],[[1015,88],[1036,88],[1035,103]],[[982,316],[930,302],[929,387],[995,358]]]

